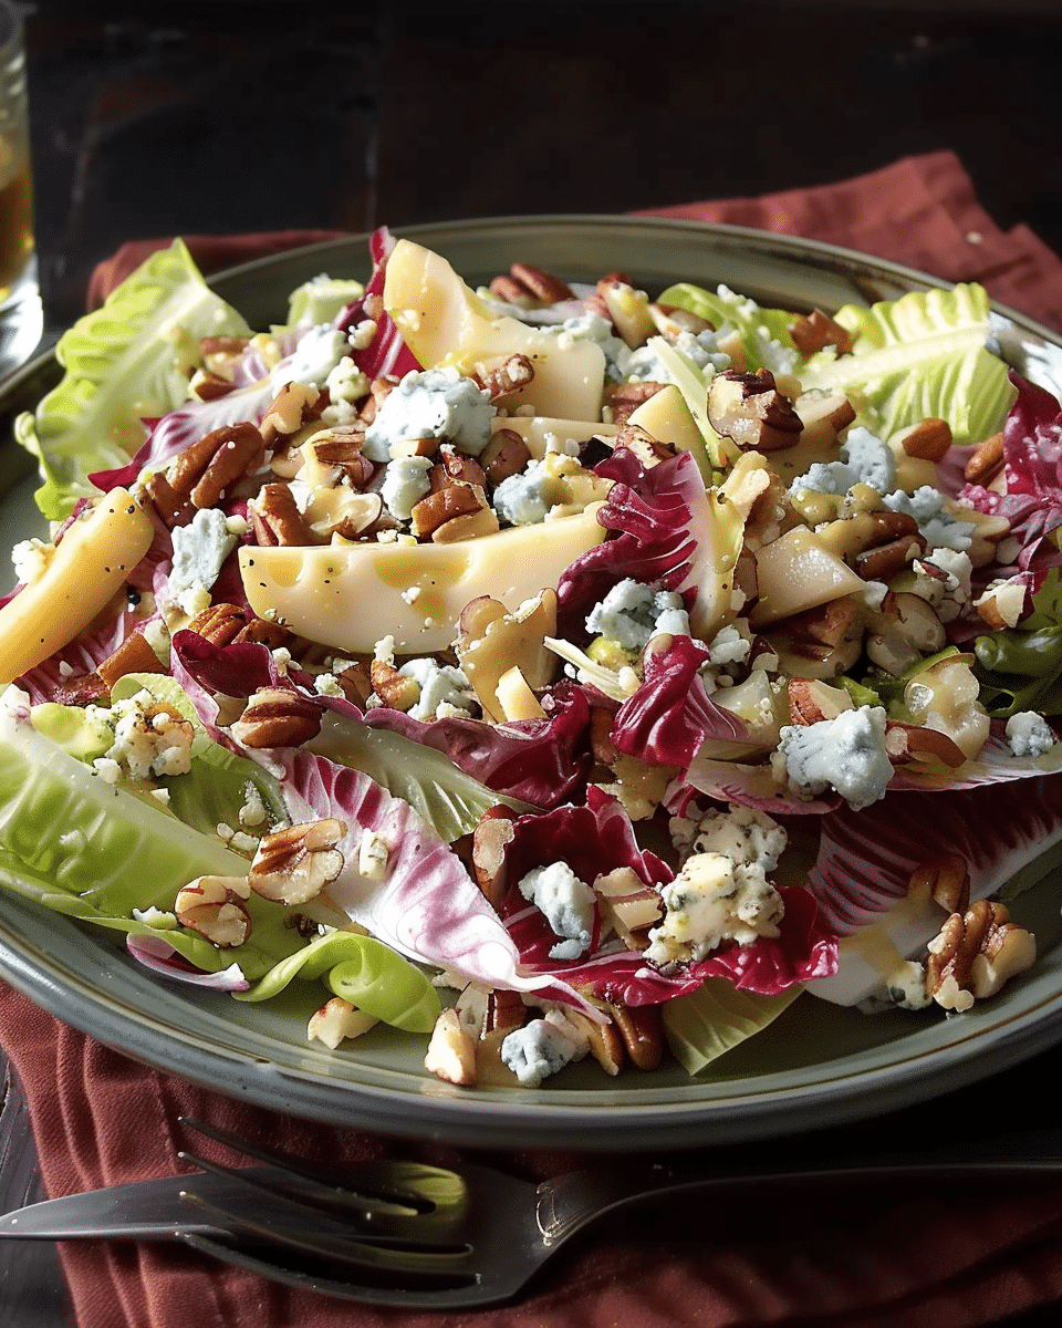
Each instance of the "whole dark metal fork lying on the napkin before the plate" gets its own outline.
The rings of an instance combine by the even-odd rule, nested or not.
[[[357,1165],[340,1181],[198,1121],[186,1125],[258,1158],[267,1169],[219,1166],[182,1157],[246,1186],[224,1206],[186,1197],[202,1211],[195,1230],[174,1231],[189,1246],[292,1286],[374,1304],[467,1308],[511,1299],[562,1246],[589,1223],[633,1204],[690,1195],[753,1195],[779,1186],[820,1194],[919,1179],[1047,1181],[1062,1178],[1059,1138],[1006,1141],[992,1158],[936,1151],[838,1157],[814,1169],[727,1174],[720,1161],[698,1170],[631,1162],[535,1185],[478,1163],[455,1169],[412,1162]],[[1002,1142],[1002,1141],[1001,1141]],[[219,1191],[239,1194],[235,1191]],[[248,1202],[255,1201],[255,1202]]]

